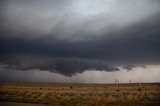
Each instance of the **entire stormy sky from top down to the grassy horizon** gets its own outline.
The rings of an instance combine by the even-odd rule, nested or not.
[[[160,1],[1,0],[0,64],[0,81],[160,82]]]

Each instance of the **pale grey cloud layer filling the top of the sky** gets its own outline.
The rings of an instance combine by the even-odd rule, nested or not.
[[[86,3],[86,4],[85,4]],[[99,10],[99,3],[102,9]],[[64,40],[86,39],[86,36],[101,36],[101,33],[115,31],[139,20],[143,20],[153,14],[159,13],[159,1],[77,1],[48,0],[48,1],[5,1],[2,8],[4,20],[2,29],[16,33],[19,36],[38,37],[50,34]],[[83,4],[83,5],[81,5]],[[89,7],[95,6],[96,10]],[[106,6],[107,5],[107,6]],[[111,6],[109,6],[111,5]],[[80,6],[76,10],[76,8]],[[107,9],[107,7],[110,9]],[[83,10],[83,8],[85,8]],[[87,8],[88,7],[88,8]],[[81,10],[82,8],[82,10]],[[88,15],[81,14],[89,11]],[[138,12],[137,12],[138,11]],[[113,29],[114,28],[114,29]],[[103,32],[103,30],[105,32]],[[77,35],[77,32],[81,34]],[[19,33],[18,33],[19,32]],[[24,32],[28,32],[24,34]],[[85,35],[84,35],[85,34]],[[34,36],[33,36],[34,35]]]

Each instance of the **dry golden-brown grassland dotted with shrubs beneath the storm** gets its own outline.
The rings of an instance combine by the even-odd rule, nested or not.
[[[54,105],[159,105],[160,83],[1,83],[0,101]]]

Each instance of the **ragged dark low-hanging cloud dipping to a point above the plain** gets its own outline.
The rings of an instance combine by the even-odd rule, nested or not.
[[[1,58],[1,64],[7,69],[17,69],[21,71],[39,69],[49,72],[59,73],[65,76],[72,76],[82,73],[85,70],[99,71],[119,71],[117,67],[110,67],[100,61],[90,61],[81,59],[51,58],[43,56],[7,56]]]

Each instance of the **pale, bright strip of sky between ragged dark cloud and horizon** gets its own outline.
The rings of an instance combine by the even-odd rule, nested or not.
[[[160,81],[159,65],[148,65],[145,68],[136,67],[132,71],[127,71],[122,67],[119,67],[120,71],[113,72],[86,70],[83,73],[76,73],[72,77],[39,69],[21,71],[17,69],[8,70],[4,67],[0,65],[0,82],[114,83],[115,78],[120,83],[128,83],[129,81],[132,83]]]

